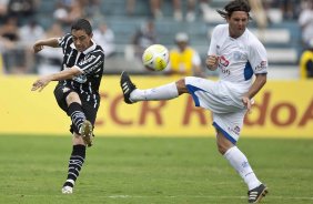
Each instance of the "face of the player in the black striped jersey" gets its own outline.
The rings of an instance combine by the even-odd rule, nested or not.
[[[92,34],[87,34],[84,30],[72,30],[73,42],[78,51],[83,52],[92,45]]]

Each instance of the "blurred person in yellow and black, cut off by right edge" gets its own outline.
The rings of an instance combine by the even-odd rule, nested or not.
[[[301,79],[313,79],[313,39],[300,58],[300,76]]]

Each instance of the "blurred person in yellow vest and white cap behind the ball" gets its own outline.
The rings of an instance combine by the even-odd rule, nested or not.
[[[199,53],[189,45],[189,35],[184,32],[176,33],[175,44],[176,48],[170,51],[170,67],[166,68],[166,73],[205,76]]]

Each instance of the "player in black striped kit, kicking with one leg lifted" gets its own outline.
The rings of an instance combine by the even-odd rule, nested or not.
[[[100,105],[99,86],[103,74],[104,52],[92,40],[92,28],[88,20],[73,22],[71,33],[61,38],[39,40],[34,52],[44,47],[62,48],[63,63],[58,73],[40,76],[32,91],[41,91],[51,81],[59,81],[54,96],[59,106],[71,118],[72,153],[62,193],[73,192],[85,159],[85,146],[92,145],[93,125]]]

